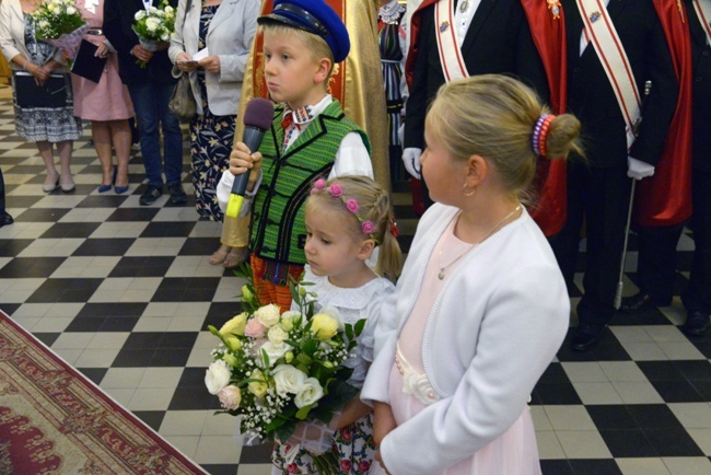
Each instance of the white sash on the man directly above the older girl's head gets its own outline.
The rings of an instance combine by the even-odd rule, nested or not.
[[[462,48],[457,43],[455,26],[453,0],[440,0],[434,9],[434,35],[446,82],[469,77],[462,57]]]

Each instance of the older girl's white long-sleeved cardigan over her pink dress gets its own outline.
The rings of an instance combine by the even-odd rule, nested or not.
[[[397,338],[432,251],[457,208],[434,204],[375,327],[375,358],[361,398],[389,403]],[[434,474],[503,435],[566,336],[570,301],[543,232],[524,209],[463,258],[438,296],[422,339],[422,364],[439,401],[395,428],[381,453],[392,474]],[[412,454],[428,454],[413,457]]]

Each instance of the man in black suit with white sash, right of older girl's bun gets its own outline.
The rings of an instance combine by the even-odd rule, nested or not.
[[[562,7],[568,109],[583,125],[587,160],[568,164],[568,218],[551,245],[570,290],[585,222],[585,291],[571,346],[586,350],[615,315],[630,178],[654,174],[679,88],[652,1],[563,0]]]

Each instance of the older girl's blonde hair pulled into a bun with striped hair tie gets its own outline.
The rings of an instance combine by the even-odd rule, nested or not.
[[[493,164],[501,182],[516,198],[531,201],[536,175],[534,129],[550,114],[536,93],[521,81],[501,74],[481,74],[444,84],[427,116],[428,130],[455,160],[480,155]],[[543,149],[546,158],[582,155],[580,121],[562,114],[549,123]]]

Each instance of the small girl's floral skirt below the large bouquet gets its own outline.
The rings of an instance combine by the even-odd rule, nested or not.
[[[334,450],[338,454],[340,474],[364,475],[373,464],[375,444],[373,443],[373,413],[363,416],[334,433]],[[293,462],[285,461],[288,445],[275,443],[271,454],[273,468],[277,474],[316,474],[311,454],[300,450]]]

